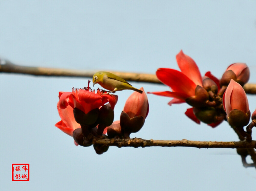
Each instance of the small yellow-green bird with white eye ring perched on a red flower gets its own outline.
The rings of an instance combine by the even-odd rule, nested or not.
[[[96,72],[92,77],[93,86],[95,84],[101,85],[102,88],[109,90],[109,93],[115,93],[121,90],[133,90],[142,94],[143,91],[134,88],[124,79],[110,73],[110,72]]]

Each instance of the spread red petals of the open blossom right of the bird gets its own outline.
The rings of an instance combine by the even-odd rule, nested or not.
[[[176,55],[178,66],[181,70],[170,68],[159,68],[156,72],[158,79],[168,85],[172,91],[151,92],[152,94],[174,97],[168,104],[184,103],[189,97],[195,96],[195,89],[199,85],[202,87],[201,73],[195,61],[182,50]]]

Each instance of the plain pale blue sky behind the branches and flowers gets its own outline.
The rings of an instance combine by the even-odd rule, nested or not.
[[[176,54],[191,56],[203,75],[220,78],[229,64],[256,71],[255,1],[1,1],[0,56],[17,64],[155,73],[178,69]],[[0,185],[2,190],[251,190],[255,169],[233,149],[109,148],[97,155],[62,133],[59,91],[87,78],[0,74]],[[145,91],[166,86],[131,82]],[[96,88],[99,86],[96,85]],[[132,91],[117,92],[118,120]],[[144,127],[131,137],[237,141],[226,122],[195,124],[187,104],[148,94]],[[255,96],[248,96],[250,110]],[[253,138],[255,135],[253,133]],[[248,160],[250,161],[250,160]],[[11,164],[29,163],[30,181],[12,182]]]

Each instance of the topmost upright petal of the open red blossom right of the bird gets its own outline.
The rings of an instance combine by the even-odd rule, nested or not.
[[[202,76],[195,61],[188,55],[184,54],[182,50],[176,55],[176,60],[181,72],[191,79],[196,85],[202,86]]]

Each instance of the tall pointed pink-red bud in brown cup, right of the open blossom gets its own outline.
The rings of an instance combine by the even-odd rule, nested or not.
[[[244,89],[233,79],[223,94],[223,107],[231,126],[245,126],[250,120],[250,110]]]

